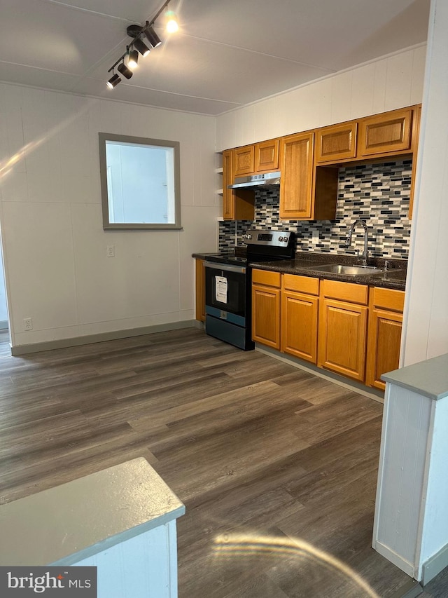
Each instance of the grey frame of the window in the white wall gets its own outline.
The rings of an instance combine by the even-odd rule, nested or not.
[[[181,226],[181,159],[179,141],[168,141],[150,139],[149,137],[134,137],[132,135],[116,135],[115,133],[99,132],[99,175],[101,179],[103,229],[105,231],[179,231]],[[110,222],[109,220],[109,194],[107,186],[107,161],[106,142],[122,142],[123,144],[134,144],[141,146],[160,146],[174,149],[174,222],[143,223],[143,222]]]

